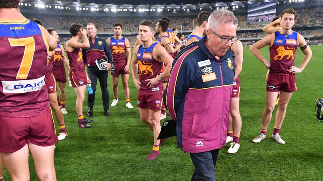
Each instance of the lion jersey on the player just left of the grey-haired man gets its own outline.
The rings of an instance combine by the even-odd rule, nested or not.
[[[160,81],[154,88],[147,86],[146,79],[155,78],[157,75],[161,74],[161,69],[163,67],[163,62],[159,61],[156,57],[153,56],[154,46],[158,43],[155,42],[147,48],[143,48],[143,45],[140,45],[137,51],[137,60],[139,68],[139,81],[140,81],[140,90],[141,91],[162,91],[163,86]]]

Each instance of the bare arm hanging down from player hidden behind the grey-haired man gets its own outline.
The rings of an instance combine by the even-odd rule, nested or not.
[[[232,50],[235,55],[235,77],[233,80],[236,80],[242,70],[243,63],[243,45],[238,40],[236,43],[232,45]]]

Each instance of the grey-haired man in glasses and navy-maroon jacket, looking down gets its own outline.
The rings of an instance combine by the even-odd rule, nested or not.
[[[215,181],[214,167],[227,138],[234,78],[230,46],[238,40],[237,24],[233,12],[214,11],[206,36],[177,55],[164,92],[177,122],[177,146],[190,153],[195,167],[191,181]]]

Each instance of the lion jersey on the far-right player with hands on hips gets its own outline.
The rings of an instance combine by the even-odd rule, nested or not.
[[[298,33],[290,35],[281,34],[279,31],[273,33],[273,42],[270,51],[270,74],[288,75],[292,74],[289,69],[294,66],[296,49],[298,46]]]

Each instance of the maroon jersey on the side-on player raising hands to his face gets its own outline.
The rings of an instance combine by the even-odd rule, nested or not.
[[[83,72],[85,65],[83,62],[83,53],[81,48],[75,48],[73,51],[66,51],[67,58],[70,60],[70,71]]]

